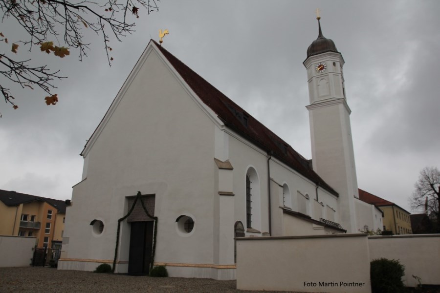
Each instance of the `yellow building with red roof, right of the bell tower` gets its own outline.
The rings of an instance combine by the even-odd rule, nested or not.
[[[412,234],[410,213],[395,203],[359,188],[359,199],[383,211],[383,230],[393,234]]]

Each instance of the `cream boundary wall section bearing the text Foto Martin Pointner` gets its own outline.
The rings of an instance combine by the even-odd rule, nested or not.
[[[367,234],[237,238],[237,289],[371,293]]]

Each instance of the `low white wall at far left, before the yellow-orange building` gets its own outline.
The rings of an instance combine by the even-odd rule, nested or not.
[[[0,235],[0,268],[28,267],[35,237]]]

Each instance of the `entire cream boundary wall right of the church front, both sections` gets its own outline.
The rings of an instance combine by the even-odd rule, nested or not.
[[[398,259],[407,287],[440,285],[440,234],[237,238],[237,289],[370,293],[370,262]]]

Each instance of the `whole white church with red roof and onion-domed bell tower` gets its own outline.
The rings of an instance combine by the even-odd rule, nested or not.
[[[81,153],[58,268],[234,279],[235,237],[382,228],[358,199],[343,64],[319,26],[309,161],[150,41]]]

